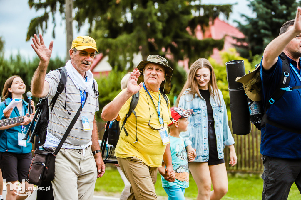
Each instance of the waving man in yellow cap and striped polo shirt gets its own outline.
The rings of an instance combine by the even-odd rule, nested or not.
[[[53,41],[47,48],[41,34],[39,38],[34,35],[31,44],[40,58],[33,75],[31,92],[35,97],[48,98],[49,105],[57,92],[61,73],[54,70],[46,74]],[[93,38],[79,36],[73,40],[69,50],[71,59],[65,66],[65,91],[58,96],[53,110],[49,109],[44,146],[56,149],[76,111],[82,107],[80,116],[55,159],[52,180],[54,199],[93,199],[96,178],[102,177],[105,172],[95,121],[95,112],[99,110],[98,85],[90,71],[96,52]]]

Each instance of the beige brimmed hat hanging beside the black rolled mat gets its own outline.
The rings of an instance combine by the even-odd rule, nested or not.
[[[254,71],[243,77],[237,77],[235,80],[243,84],[246,95],[254,102],[259,102],[262,99],[259,66],[260,64],[257,65]]]

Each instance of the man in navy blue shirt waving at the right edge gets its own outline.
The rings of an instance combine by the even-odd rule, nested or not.
[[[289,86],[301,85],[301,9],[297,8],[295,20],[284,23],[279,36],[265,48],[261,65],[262,94],[264,105],[282,77],[284,53],[290,65]],[[268,108],[267,118],[301,133],[301,89],[286,91]],[[287,199],[295,182],[301,193],[301,134],[272,126],[262,127],[260,152],[264,165],[262,199]]]

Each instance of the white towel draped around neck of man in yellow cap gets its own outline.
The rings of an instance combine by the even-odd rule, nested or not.
[[[75,84],[76,88],[85,92],[88,92],[90,95],[93,95],[93,89],[92,89],[92,84],[94,82],[93,74],[90,70],[86,71],[86,76],[87,76],[87,82],[85,79],[82,77],[81,74],[79,74],[78,71],[73,67],[71,60],[68,60],[66,63],[66,70],[68,72],[69,77]]]

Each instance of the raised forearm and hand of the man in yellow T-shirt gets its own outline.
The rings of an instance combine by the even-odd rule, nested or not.
[[[116,97],[113,101],[108,103],[103,109],[101,113],[101,119],[104,121],[112,121],[114,120],[122,108],[123,104],[134,94],[139,92],[143,83],[137,85],[138,77],[140,76],[140,72],[137,70],[133,70],[130,74],[129,81],[127,84],[126,91],[123,92],[120,96]]]

